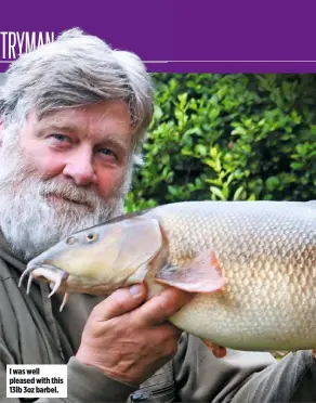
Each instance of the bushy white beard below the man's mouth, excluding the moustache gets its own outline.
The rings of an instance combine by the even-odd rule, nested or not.
[[[28,188],[34,186],[29,182]],[[56,210],[40,195],[35,196],[29,191],[14,198],[0,192],[0,227],[12,250],[24,260],[34,258],[71,233],[97,225],[122,212],[120,200],[111,200],[92,213],[80,206],[65,206]]]

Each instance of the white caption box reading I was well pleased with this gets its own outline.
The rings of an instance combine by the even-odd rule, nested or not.
[[[6,398],[67,398],[67,365],[6,365]]]

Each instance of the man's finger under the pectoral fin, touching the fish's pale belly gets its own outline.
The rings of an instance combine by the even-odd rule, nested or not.
[[[159,325],[177,312],[193,298],[193,294],[170,287],[135,311],[142,323]]]

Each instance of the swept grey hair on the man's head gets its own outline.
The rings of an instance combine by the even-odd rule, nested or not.
[[[134,162],[141,164],[141,144],[153,118],[153,87],[134,53],[113,50],[100,38],[74,28],[22,54],[5,76],[0,88],[4,127],[22,125],[32,108],[41,119],[60,108],[126,101],[133,129]]]

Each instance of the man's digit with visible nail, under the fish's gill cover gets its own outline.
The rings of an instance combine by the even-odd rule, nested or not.
[[[120,288],[100,302],[92,311],[94,321],[103,322],[123,315],[137,308],[145,299],[146,286],[136,284],[129,288]]]

